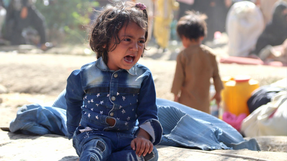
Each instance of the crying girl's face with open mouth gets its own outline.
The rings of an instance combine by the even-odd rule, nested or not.
[[[119,30],[121,42],[113,51],[108,52],[107,66],[110,70],[131,69],[143,54],[146,31],[136,23],[129,23]],[[114,43],[112,38],[110,43]],[[109,46],[113,46],[110,44]],[[105,46],[104,46],[105,48]]]

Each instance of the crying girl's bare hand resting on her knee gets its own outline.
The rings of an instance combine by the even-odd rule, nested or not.
[[[131,148],[136,150],[136,155],[139,157],[141,155],[146,156],[147,153],[151,153],[153,150],[153,144],[150,141],[150,135],[143,130],[139,129],[139,133],[134,140],[131,141]]]

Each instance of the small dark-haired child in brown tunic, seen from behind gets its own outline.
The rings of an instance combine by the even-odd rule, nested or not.
[[[212,99],[216,99],[218,107],[223,85],[215,55],[210,48],[201,44],[207,33],[207,17],[191,11],[187,13],[177,24],[176,30],[185,49],[177,56],[171,92],[174,94],[174,101],[209,113],[210,78],[213,78],[216,90]]]

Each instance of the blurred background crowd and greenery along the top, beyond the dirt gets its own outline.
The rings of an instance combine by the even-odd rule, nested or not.
[[[0,0],[0,45],[42,50],[87,42],[89,24],[102,6],[117,0]],[[228,55],[287,63],[286,0],[141,0],[149,14],[148,45],[166,52],[179,44],[176,23],[188,10],[208,16],[203,44],[228,35]],[[285,42],[284,42],[285,41]],[[1,48],[0,46],[0,48]]]

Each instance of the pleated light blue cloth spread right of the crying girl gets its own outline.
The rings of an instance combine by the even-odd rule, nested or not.
[[[166,99],[157,99],[157,104],[163,127],[159,145],[201,150],[261,150],[256,139],[244,140],[236,129],[208,113]]]

